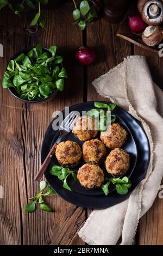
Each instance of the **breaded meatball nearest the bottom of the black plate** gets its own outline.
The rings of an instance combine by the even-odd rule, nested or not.
[[[97,164],[85,163],[78,170],[77,178],[87,190],[101,187],[104,182],[103,170]]]

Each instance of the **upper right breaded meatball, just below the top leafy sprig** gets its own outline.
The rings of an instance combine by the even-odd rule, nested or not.
[[[110,149],[121,148],[126,141],[127,132],[120,124],[114,123],[105,132],[101,132],[100,138],[105,146]]]

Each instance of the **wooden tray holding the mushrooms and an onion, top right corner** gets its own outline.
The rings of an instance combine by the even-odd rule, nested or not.
[[[133,15],[140,15],[136,6],[136,1],[132,1],[126,16],[122,21],[121,27],[118,29],[117,36],[120,36],[120,38],[128,40],[129,42],[132,42],[133,44],[140,46],[148,51],[158,53],[160,51],[160,48],[158,47],[159,45],[148,46],[142,41],[141,34],[136,34],[130,31],[128,26],[128,21],[129,21],[129,17]]]

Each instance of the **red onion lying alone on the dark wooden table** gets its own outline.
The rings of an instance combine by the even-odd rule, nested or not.
[[[76,52],[76,60],[82,66],[91,65],[96,57],[95,50],[90,47],[80,47]]]

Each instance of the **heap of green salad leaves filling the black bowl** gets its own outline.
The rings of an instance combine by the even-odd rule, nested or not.
[[[18,96],[24,100],[41,100],[56,89],[64,90],[64,78],[61,56],[56,55],[57,46],[43,52],[40,44],[25,55],[21,53],[10,60],[2,80],[3,88],[14,87]]]

